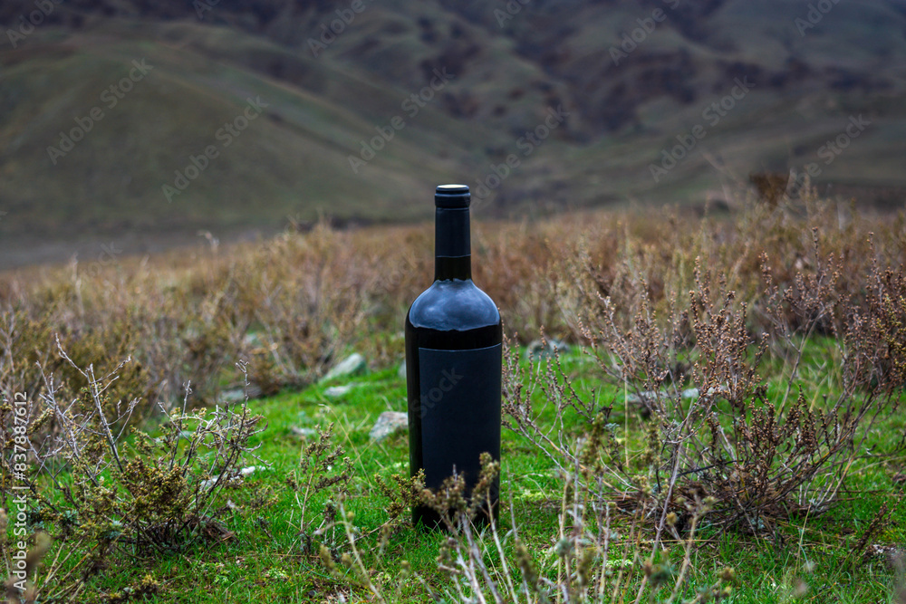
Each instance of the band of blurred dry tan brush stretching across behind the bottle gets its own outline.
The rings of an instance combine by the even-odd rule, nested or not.
[[[901,257],[906,244],[902,218],[860,216],[814,198],[795,207],[748,204],[731,220],[701,220],[678,208],[663,214],[477,224],[476,282],[519,341],[544,327],[587,343],[582,321],[600,312],[599,295],[612,299],[618,324],[628,328],[641,294],[663,314],[677,303],[670,292],[692,289],[700,257],[737,300],[750,302],[751,329],[768,331],[773,325],[754,303],[763,269],[784,291],[795,287],[796,273],[814,274],[804,225],[820,229],[822,254],[840,265],[834,288],[841,297],[866,290],[872,254]],[[0,388],[37,395],[40,367],[65,382],[71,371],[51,353],[57,336],[73,360],[99,371],[131,355],[125,370],[132,375],[123,381],[141,384],[140,415],[158,401],[177,404],[188,379],[198,400],[217,400],[238,384],[238,357],[249,360],[251,379],[265,393],[310,382],[351,346],[378,364],[398,362],[402,317],[430,283],[432,252],[427,225],[337,231],[322,224],[230,249],[8,273],[0,276]],[[793,325],[796,317],[789,312],[785,321]],[[835,327],[825,321],[815,329]]]

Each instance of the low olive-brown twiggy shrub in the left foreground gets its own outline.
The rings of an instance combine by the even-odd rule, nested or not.
[[[50,548],[43,532],[51,532],[56,542],[37,581],[31,582],[37,561],[26,569],[28,592],[8,590],[11,602],[20,595],[36,601],[36,594],[41,601],[79,601],[87,582],[114,557],[140,560],[230,538],[218,519],[226,511],[222,494],[241,483],[242,465],[254,457],[249,439],[263,430],[262,417],[250,412],[247,400],[193,410],[187,389],[183,406],[167,414],[159,436],[149,436],[133,416],[138,399],[110,396],[130,360],[97,375],[92,367],[76,365],[62,348],[59,356],[81,378],[74,398],[63,398],[64,388],[45,374],[40,399],[16,406],[24,421],[8,421],[11,401],[4,399],[0,407],[4,451],[24,451],[34,462],[24,468],[3,455],[0,501],[15,501],[23,491],[14,489],[24,487],[27,541],[36,546],[30,557],[40,559]],[[49,421],[56,430],[46,435]],[[5,516],[0,521],[4,524]],[[5,547],[0,555],[10,577],[14,551]]]

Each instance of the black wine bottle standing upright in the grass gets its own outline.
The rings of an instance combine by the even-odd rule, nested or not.
[[[441,185],[434,196],[434,283],[406,316],[411,475],[425,471],[438,488],[454,471],[477,482],[479,457],[500,459],[500,383],[503,330],[496,304],[472,283],[468,187]],[[499,478],[491,495],[497,513]],[[435,511],[416,506],[413,521],[440,523]],[[480,520],[480,518],[479,518]]]

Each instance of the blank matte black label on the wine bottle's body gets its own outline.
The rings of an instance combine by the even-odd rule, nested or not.
[[[479,455],[500,459],[501,345],[474,350],[419,348],[421,451],[425,484],[453,475],[477,481]]]

